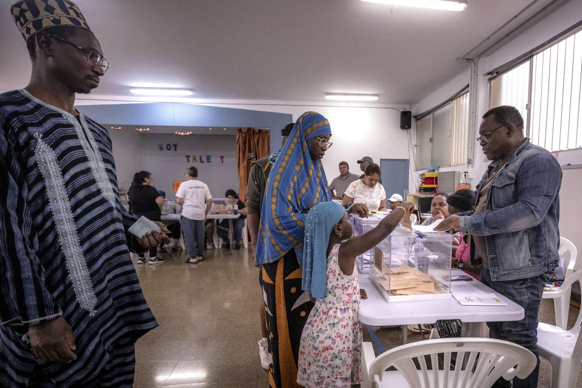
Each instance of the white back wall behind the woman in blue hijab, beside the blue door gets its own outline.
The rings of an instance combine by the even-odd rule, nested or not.
[[[303,104],[303,103],[299,103]],[[400,129],[400,111],[407,105],[393,105],[388,107],[349,107],[349,106],[315,106],[321,103],[305,103],[306,105],[229,105],[232,108],[265,110],[270,112],[289,113],[293,120],[307,111],[321,113],[329,120],[332,130],[333,146],[323,159],[325,175],[328,182],[339,175],[338,164],[345,160],[350,165],[350,171],[361,174],[360,166],[356,163],[363,156],[370,156],[375,163],[380,159],[408,159],[407,132]],[[221,106],[216,104],[217,106]],[[297,106],[299,105],[299,106]],[[278,130],[271,132],[275,136]],[[413,191],[410,186],[409,191]]]

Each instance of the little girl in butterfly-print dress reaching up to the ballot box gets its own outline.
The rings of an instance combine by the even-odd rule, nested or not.
[[[299,385],[349,388],[361,382],[356,256],[379,244],[412,210],[412,203],[403,202],[377,227],[353,238],[352,223],[339,204],[319,203],[307,214],[302,288],[311,292],[315,306],[301,334]]]

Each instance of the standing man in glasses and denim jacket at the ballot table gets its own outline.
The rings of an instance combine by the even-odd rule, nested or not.
[[[524,137],[516,108],[502,106],[483,116],[477,139],[492,160],[477,186],[475,210],[444,220],[436,230],[471,235],[471,264],[482,263],[481,281],[525,310],[516,322],[488,322],[489,336],[519,344],[538,357],[526,379],[513,387],[536,387],[540,359],[538,311],[548,274],[558,266],[559,191],[562,170],[542,147]],[[510,387],[500,379],[494,387]]]

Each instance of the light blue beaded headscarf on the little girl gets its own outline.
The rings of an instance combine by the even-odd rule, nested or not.
[[[325,298],[329,234],[344,214],[346,209],[333,201],[318,203],[307,213],[301,289],[310,291],[314,298]]]

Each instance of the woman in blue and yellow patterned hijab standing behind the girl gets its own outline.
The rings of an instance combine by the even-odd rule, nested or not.
[[[269,385],[297,387],[297,355],[301,331],[313,302],[301,291],[301,258],[308,210],[331,200],[321,164],[329,142],[329,121],[306,112],[295,122],[289,139],[271,168],[261,209],[255,266],[261,267],[269,355]],[[354,205],[361,214],[367,209]]]

